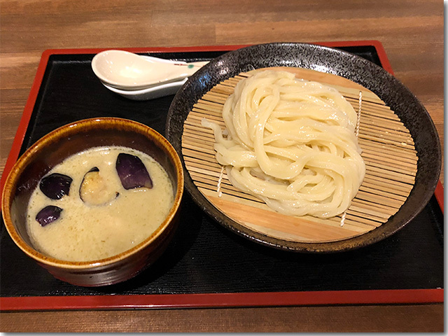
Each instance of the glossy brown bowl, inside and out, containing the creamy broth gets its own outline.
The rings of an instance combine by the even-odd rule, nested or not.
[[[151,155],[165,168],[174,188],[174,205],[165,221],[140,244],[110,258],[83,262],[57,260],[34,248],[26,229],[27,204],[39,181],[69,155],[96,146],[126,146]],[[15,244],[57,279],[78,286],[104,286],[132,278],[165,250],[179,220],[183,169],[179,155],[158,132],[120,118],[80,120],[45,135],[15,163],[1,200],[6,229]]]

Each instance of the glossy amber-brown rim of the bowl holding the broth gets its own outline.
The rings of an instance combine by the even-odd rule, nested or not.
[[[166,216],[165,220],[160,223],[158,228],[149,237],[144,239],[144,241],[141,241],[139,244],[127,249],[126,251],[123,251],[116,255],[112,255],[108,258],[90,261],[60,260],[48,255],[44,255],[32,246],[29,246],[29,244],[27,244],[27,242],[22,239],[22,237],[18,233],[18,230],[16,230],[15,225],[13,225],[11,221],[10,204],[12,204],[13,195],[15,194],[15,192],[13,193],[13,190],[15,190],[18,178],[22,170],[27,166],[29,160],[31,160],[31,158],[34,158],[36,153],[41,151],[41,148],[47,147],[50,144],[51,139],[61,139],[61,137],[66,137],[67,134],[75,134],[76,132],[78,132],[78,130],[93,130],[95,125],[109,125],[111,127],[115,127],[116,125],[125,125],[126,127],[130,127],[130,130],[138,130],[139,132],[141,132],[141,134],[145,134],[146,136],[151,137],[153,141],[156,141],[160,145],[162,145],[164,151],[167,152],[174,161],[175,172],[178,176],[176,194],[174,195],[174,203],[172,205],[172,208],[169,210],[169,214]],[[87,118],[58,127],[52,132],[45,134],[43,137],[41,137],[41,139],[38,139],[34,144],[27,148],[27,151],[25,151],[25,153],[23,153],[20,158],[18,158],[17,162],[15,162],[15,165],[10,170],[8,177],[6,178],[5,186],[3,188],[3,194],[1,195],[1,213],[6,230],[8,231],[11,239],[13,239],[14,243],[23,252],[25,252],[27,255],[29,255],[29,257],[33,258],[37,262],[48,265],[50,267],[63,269],[92,269],[122,262],[131,255],[144,250],[147,246],[151,245],[153,241],[160,237],[162,233],[165,232],[165,230],[167,230],[167,228],[169,228],[170,224],[173,222],[174,217],[176,216],[176,213],[181,205],[181,200],[183,197],[183,186],[184,174],[179,155],[176,153],[176,150],[174,149],[172,144],[170,144],[169,141],[162,136],[162,134],[153,130],[151,127],[130,119],[116,117]]]

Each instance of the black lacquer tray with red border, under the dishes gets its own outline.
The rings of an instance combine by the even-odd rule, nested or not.
[[[353,52],[391,71],[377,41],[321,44]],[[127,50],[198,61],[235,48]],[[3,181],[26,148],[76,120],[129,118],[165,133],[174,96],[136,102],[114,94],[90,67],[99,51],[44,52]],[[103,288],[53,278],[15,246],[3,221],[0,230],[1,310],[443,301],[443,214],[435,197],[405,228],[377,244],[313,255],[279,251],[239,237],[204,214],[186,193],[181,225],[162,258],[134,279]]]

